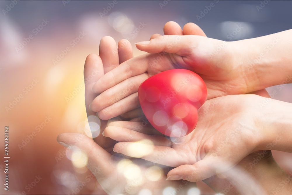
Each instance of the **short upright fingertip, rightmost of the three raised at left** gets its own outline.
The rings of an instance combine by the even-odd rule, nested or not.
[[[133,58],[133,49],[131,43],[127,39],[121,39],[118,43],[119,63],[123,63]]]

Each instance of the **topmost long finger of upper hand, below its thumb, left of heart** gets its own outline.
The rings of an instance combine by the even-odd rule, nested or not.
[[[172,69],[171,64],[169,63],[169,60],[166,56],[161,57],[159,54],[154,54],[145,57],[145,54],[140,55],[138,57],[131,58],[124,63],[121,63],[112,71],[106,73],[93,85],[93,92],[100,94],[101,92],[104,92],[106,89],[115,86],[123,80],[145,73],[147,71],[148,65],[158,57],[160,59],[159,64],[162,65],[165,70]]]

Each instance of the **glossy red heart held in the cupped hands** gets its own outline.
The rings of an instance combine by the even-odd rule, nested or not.
[[[138,89],[141,108],[151,125],[170,137],[194,130],[197,110],[207,98],[206,84],[196,73],[172,69],[145,80]]]

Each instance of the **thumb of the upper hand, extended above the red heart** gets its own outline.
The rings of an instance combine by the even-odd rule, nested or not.
[[[150,54],[164,51],[180,56],[187,56],[190,54],[192,48],[196,48],[202,39],[207,38],[197,35],[164,35],[151,39],[150,41],[138,42],[136,43],[136,47]]]

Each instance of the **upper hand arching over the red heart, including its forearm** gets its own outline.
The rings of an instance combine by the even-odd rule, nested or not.
[[[139,42],[137,48],[150,54],[131,58],[101,77],[92,88],[100,95],[90,108],[102,119],[138,108],[139,85],[150,76],[173,68],[199,74],[208,88],[207,99],[291,83],[291,76],[287,75],[292,72],[291,33],[292,30],[286,30],[228,43],[198,35],[165,35]],[[273,48],[270,44],[274,44]],[[123,89],[128,90],[122,93]]]

